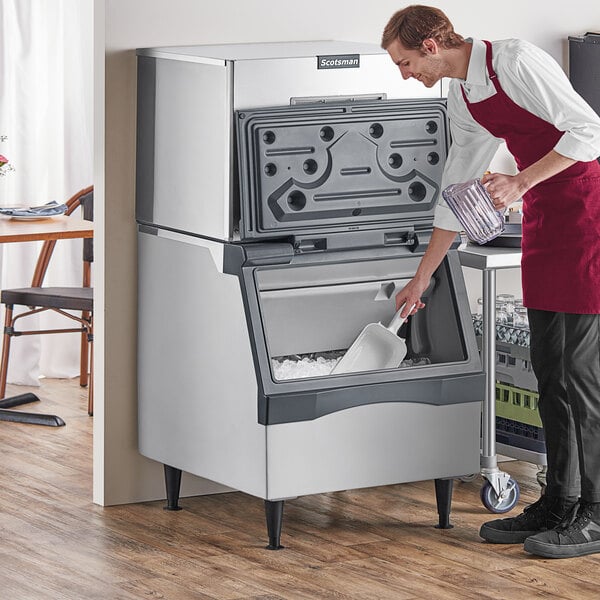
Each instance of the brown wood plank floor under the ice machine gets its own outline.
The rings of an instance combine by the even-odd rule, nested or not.
[[[480,540],[480,478],[455,484],[445,531],[430,481],[288,501],[279,552],[264,547],[262,501],[242,493],[186,498],[180,512],[95,506],[86,392],[58,380],[37,392],[27,410],[67,425],[0,422],[2,600],[600,598],[600,555],[544,560]],[[519,508],[537,498],[534,465],[505,470]]]

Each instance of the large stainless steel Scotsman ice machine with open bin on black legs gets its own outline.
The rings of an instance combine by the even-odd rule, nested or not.
[[[478,472],[483,375],[455,248],[383,371],[332,375],[389,322],[432,231],[440,88],[372,44],[138,50],[139,449],[284,501]],[[459,240],[457,238],[456,246]]]

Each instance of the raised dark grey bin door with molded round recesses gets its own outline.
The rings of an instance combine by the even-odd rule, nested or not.
[[[442,100],[236,116],[243,238],[431,226],[449,140]]]

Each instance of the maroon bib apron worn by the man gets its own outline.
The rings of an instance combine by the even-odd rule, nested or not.
[[[485,42],[488,75],[496,93],[481,102],[463,98],[493,136],[503,138],[520,171],[554,148],[563,135],[521,108],[504,92]],[[600,164],[577,162],[523,195],[523,303],[528,308],[600,313]]]

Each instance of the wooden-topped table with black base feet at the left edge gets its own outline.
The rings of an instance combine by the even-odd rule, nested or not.
[[[27,221],[0,217],[0,244],[91,237],[94,237],[93,222],[78,217],[58,216]],[[10,410],[10,407],[37,401],[39,401],[39,398],[31,393],[3,398],[0,400],[0,421],[49,425],[52,427],[65,424],[56,415]]]

